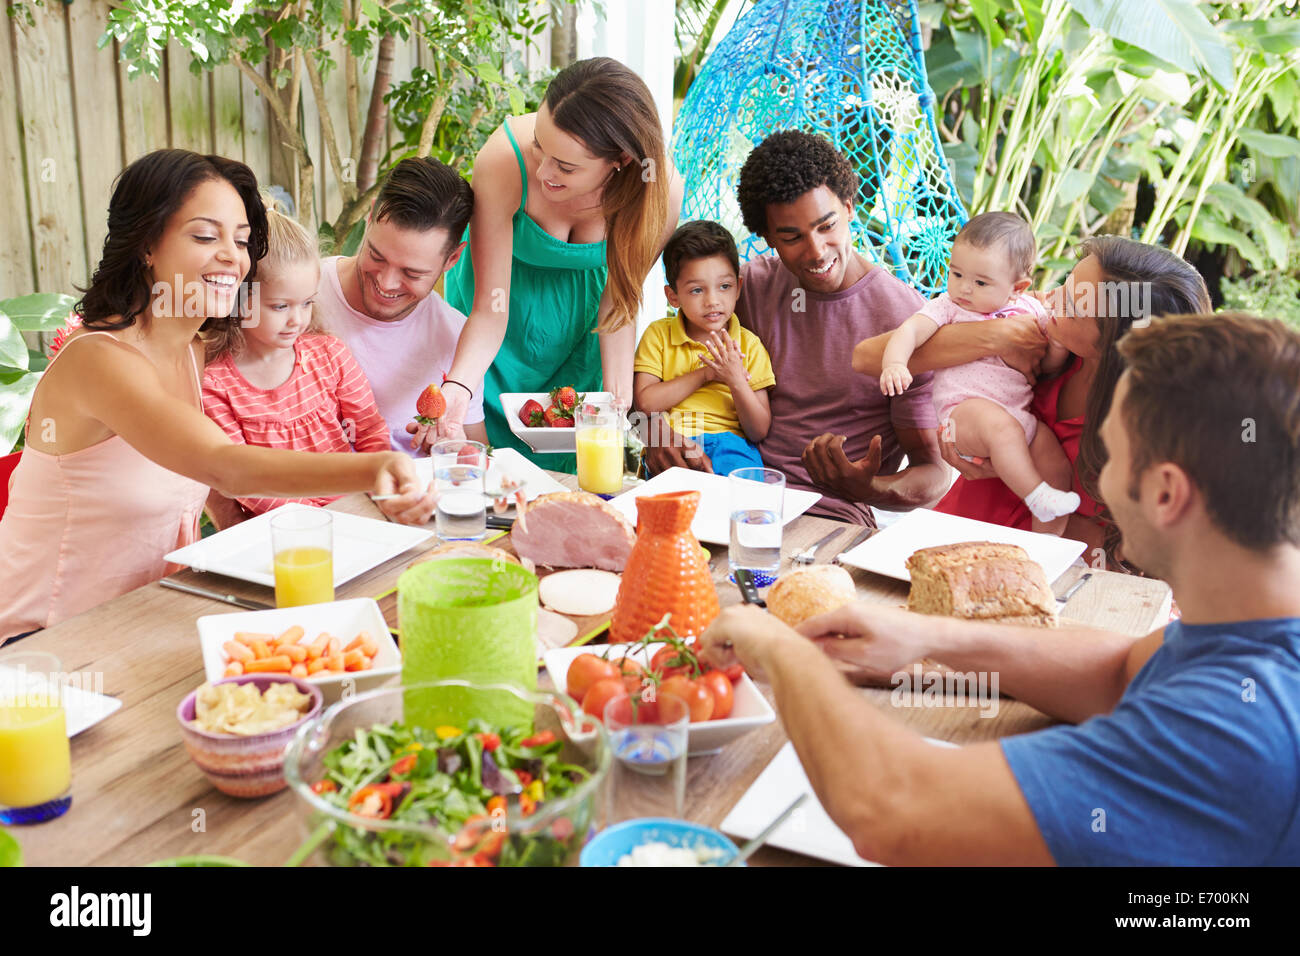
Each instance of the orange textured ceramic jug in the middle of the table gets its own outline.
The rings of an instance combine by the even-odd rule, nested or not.
[[[640,640],[664,614],[681,637],[699,635],[718,617],[708,561],[690,533],[699,492],[637,498],[637,542],[619,584],[610,641]]]

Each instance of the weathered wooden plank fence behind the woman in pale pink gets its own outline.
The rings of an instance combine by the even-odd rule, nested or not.
[[[259,182],[296,195],[294,153],[277,142],[276,120],[235,66],[194,75],[188,55],[172,44],[160,79],[127,79],[117,43],[99,48],[108,0],[31,8],[35,26],[0,17],[0,298],[31,291],[74,293],[99,263],[114,177],[150,150],[182,147],[247,163]],[[529,51],[550,62],[549,38]],[[425,66],[424,44],[398,42],[394,81]],[[334,51],[342,64],[341,51]],[[359,70],[364,111],[373,60]],[[343,155],[351,151],[343,118],[343,70],[325,82]],[[342,208],[326,159],[311,85],[303,83],[299,121],[312,153],[317,221]],[[364,117],[363,117],[364,122]],[[386,146],[396,130],[390,121]]]

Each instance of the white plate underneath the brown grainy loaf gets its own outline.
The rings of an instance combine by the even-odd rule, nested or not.
[[[1056,535],[1036,535],[1019,528],[1004,528],[1001,524],[976,522],[972,518],[958,518],[939,511],[916,509],[909,511],[888,528],[876,532],[861,545],[840,555],[840,563],[861,567],[887,578],[910,581],[907,558],[922,548],[956,545],[963,541],[996,541],[1004,545],[1019,545],[1031,561],[1043,566],[1050,584],[1083,554],[1087,545]]]

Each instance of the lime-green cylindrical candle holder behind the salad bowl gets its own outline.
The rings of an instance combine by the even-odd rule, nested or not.
[[[537,575],[489,558],[428,561],[398,579],[402,683],[473,680],[537,689]],[[406,696],[412,726],[532,726],[533,705],[514,695],[432,688]]]

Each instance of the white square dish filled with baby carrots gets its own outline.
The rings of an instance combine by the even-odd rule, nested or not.
[[[320,687],[325,704],[360,693],[402,671],[402,654],[368,597],[270,611],[208,614],[198,620],[208,680],[285,674]]]

